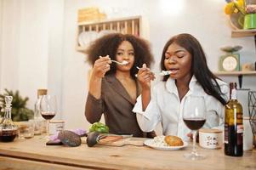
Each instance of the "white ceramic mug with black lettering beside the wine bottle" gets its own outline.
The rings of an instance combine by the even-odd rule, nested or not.
[[[199,130],[199,145],[206,149],[219,149],[223,145],[223,134],[219,129]]]

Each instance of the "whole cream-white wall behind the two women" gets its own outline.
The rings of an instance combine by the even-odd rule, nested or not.
[[[37,88],[49,88],[59,96],[59,118],[67,128],[88,127],[83,112],[90,66],[75,50],[79,8],[98,7],[112,17],[142,15],[145,37],[156,59],[154,70],[159,69],[165,42],[182,32],[202,43],[212,71],[218,70],[223,54],[219,48],[226,45],[242,45],[242,63],[256,60],[253,37],[230,37],[230,24],[223,12],[225,0],[2,1],[1,91],[20,89],[30,97],[32,106]],[[7,65],[11,69],[7,70]],[[236,77],[223,78],[237,82]],[[243,79],[244,88],[255,89],[256,77]]]

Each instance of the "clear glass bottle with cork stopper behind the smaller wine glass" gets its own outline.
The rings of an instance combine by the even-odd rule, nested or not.
[[[34,113],[36,135],[43,133],[45,129],[45,121],[40,113],[40,101],[42,99],[42,96],[46,94],[47,94],[47,89],[37,89],[37,102],[35,104],[35,113]]]

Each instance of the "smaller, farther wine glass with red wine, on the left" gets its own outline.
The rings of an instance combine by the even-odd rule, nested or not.
[[[41,115],[47,122],[46,133],[49,135],[49,120],[54,118],[57,112],[57,99],[55,95],[43,95],[40,101]]]

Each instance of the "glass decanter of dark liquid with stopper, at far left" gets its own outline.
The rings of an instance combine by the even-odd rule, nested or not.
[[[12,121],[12,96],[5,96],[5,113],[3,122],[0,124],[0,141],[12,142],[18,135],[18,127]]]

